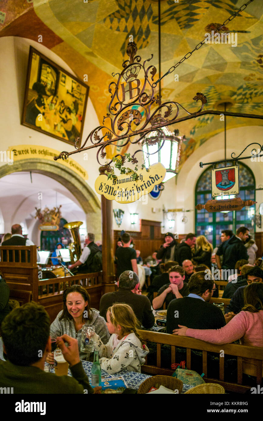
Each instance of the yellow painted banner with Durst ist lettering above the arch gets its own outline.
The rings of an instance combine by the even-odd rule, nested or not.
[[[16,145],[11,146],[8,148],[8,156],[9,161],[19,161],[24,159],[32,159],[32,158],[42,158],[51,160],[54,165],[56,162],[54,161],[54,157],[60,154],[59,151],[56,149],[51,149],[44,146],[38,145]],[[70,168],[72,171],[77,173],[81,178],[84,180],[88,179],[87,171],[76,161],[68,158],[67,160],[61,160],[60,163],[65,165],[67,168]],[[11,164],[9,164],[11,165]]]

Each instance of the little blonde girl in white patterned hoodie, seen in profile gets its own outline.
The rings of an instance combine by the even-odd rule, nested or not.
[[[109,374],[123,369],[140,373],[149,350],[141,342],[140,323],[132,307],[119,303],[109,307],[107,328],[112,335],[106,345],[94,334],[94,349],[99,351],[101,368]]]

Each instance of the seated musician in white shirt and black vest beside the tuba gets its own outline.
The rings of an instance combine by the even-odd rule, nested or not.
[[[88,233],[88,236],[85,240],[85,244],[87,247],[83,248],[81,257],[78,261],[76,261],[74,264],[71,264],[68,266],[70,270],[75,269],[77,266],[81,266],[78,268],[77,273],[92,273],[93,270],[93,259],[95,254],[98,252],[101,253],[99,250],[99,247],[97,244],[94,243],[95,236],[94,234],[91,234],[91,232]]]

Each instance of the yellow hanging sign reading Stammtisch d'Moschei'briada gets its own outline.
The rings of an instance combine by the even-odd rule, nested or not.
[[[118,203],[136,202],[164,180],[166,169],[161,163],[151,165],[148,170],[146,171],[146,168],[139,170],[137,180],[132,179],[132,173],[122,174],[117,179],[109,180],[106,175],[101,175],[95,181],[95,190],[106,199]]]

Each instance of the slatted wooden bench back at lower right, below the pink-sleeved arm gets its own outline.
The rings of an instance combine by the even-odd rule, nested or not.
[[[225,388],[225,390],[232,392],[245,393],[251,388],[243,384],[242,374],[250,374],[250,376],[256,376],[257,384],[261,384],[263,376],[263,348],[256,346],[245,346],[236,344],[225,344],[215,345],[209,344],[208,342],[200,341],[199,339],[188,338],[186,336],[175,336],[167,333],[151,332],[148,330],[139,330],[141,338],[145,342],[155,342],[157,346],[157,362],[156,366],[148,365],[147,359],[145,364],[142,366],[144,373],[156,375],[171,376],[174,370],[168,368],[162,368],[161,365],[161,344],[171,345],[171,363],[174,364],[176,361],[176,348],[186,348],[186,367],[191,370],[191,350],[197,349],[202,352],[202,368],[204,377],[203,379],[207,383],[217,383]],[[207,377],[207,353],[215,352],[222,355],[233,355],[237,357],[237,383],[229,383],[224,380],[225,368],[224,368],[224,357],[219,357],[219,378]]]

